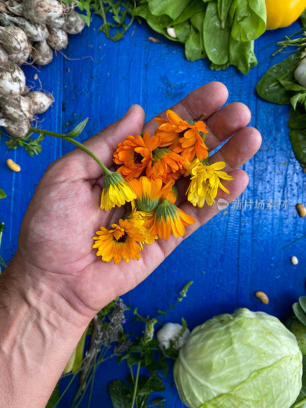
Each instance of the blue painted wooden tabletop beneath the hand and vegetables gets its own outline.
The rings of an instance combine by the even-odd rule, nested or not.
[[[193,328],[219,313],[232,313],[238,307],[265,311],[284,319],[291,305],[304,294],[306,238],[288,244],[305,233],[304,219],[296,212],[297,202],[305,203],[306,175],[295,159],[288,138],[288,106],[261,100],[255,86],[263,73],[284,58],[267,59],[276,49],[268,44],[299,28],[265,33],[256,41],[259,65],[247,75],[230,67],[215,72],[206,61],[191,63],[184,48],[156,34],[145,23],[133,23],[119,42],[107,40],[97,29],[96,18],[81,35],[70,36],[64,58],[58,54],[38,72],[24,69],[29,85],[42,87],[55,97],[53,107],[40,118],[43,129],[66,132],[89,116],[82,140],[120,118],[132,104],[143,106],[146,118],[170,107],[187,93],[210,81],[223,82],[230,93],[228,102],[241,101],[252,113],[250,125],[262,133],[260,151],[243,168],[249,186],[224,212],[184,241],[145,282],[124,296],[142,315],[153,316],[173,301],[187,281],[194,281],[189,294],[167,320],[180,322],[182,316]],[[161,43],[148,41],[148,36]],[[92,58],[84,58],[92,57]],[[34,80],[38,74],[39,80]],[[0,200],[0,218],[5,222],[2,254],[9,260],[17,247],[22,216],[46,167],[71,149],[58,139],[44,142],[39,156],[30,158],[18,148],[7,150],[0,141],[0,188],[8,197]],[[20,173],[8,169],[12,158]],[[264,208],[263,208],[264,206]],[[290,257],[299,263],[294,266]],[[264,291],[270,302],[264,305],[254,296]],[[108,382],[126,373],[116,361],[101,365],[95,379],[92,408],[110,408]],[[182,407],[175,386],[168,378],[165,396],[169,406]],[[60,407],[69,407],[67,396]],[[84,404],[81,405],[87,406]]]

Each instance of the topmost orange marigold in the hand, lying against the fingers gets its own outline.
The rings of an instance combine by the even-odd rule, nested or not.
[[[191,161],[195,156],[208,158],[208,148],[202,134],[209,133],[202,120],[183,120],[170,109],[166,111],[168,120],[155,118],[159,127],[155,134],[161,138],[160,146],[169,146],[175,153],[181,153],[183,159]]]

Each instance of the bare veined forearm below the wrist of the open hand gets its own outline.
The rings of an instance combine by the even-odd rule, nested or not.
[[[0,276],[0,406],[43,408],[90,319],[20,269]]]

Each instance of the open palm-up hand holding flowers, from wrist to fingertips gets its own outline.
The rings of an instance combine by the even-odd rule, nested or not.
[[[210,162],[224,161],[224,171],[234,177],[234,181],[224,182],[230,194],[221,191],[217,195],[232,202],[248,184],[247,174],[238,168],[259,149],[261,136],[253,127],[245,127],[250,120],[245,105],[233,103],[219,109],[227,95],[223,84],[213,82],[194,90],[171,109],[183,119],[206,113],[210,132],[205,143],[209,151],[229,139],[210,157]],[[84,145],[112,168],[113,152],[119,142],[143,131],[154,134],[156,127],[154,119],[144,124],[143,109],[133,105],[123,118]],[[39,182],[22,221],[16,262],[31,278],[43,282],[90,320],[116,296],[142,282],[183,239],[218,212],[216,203],[212,207],[193,207],[185,195],[187,186],[188,180],[181,177],[177,183],[177,205],[195,218],[195,224],[186,227],[184,237],[170,236],[168,241],[159,239],[145,245],[139,261],[106,263],[96,257],[92,237],[100,225],[110,227],[117,222],[126,208],[100,210],[102,169],[85,152],[75,149],[52,163]]]

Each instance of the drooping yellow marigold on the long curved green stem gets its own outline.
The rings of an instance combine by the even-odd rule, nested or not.
[[[117,206],[121,207],[125,202],[136,198],[134,191],[122,175],[110,171],[103,180],[104,189],[101,195],[101,210],[108,211]]]

